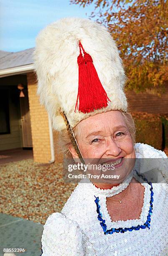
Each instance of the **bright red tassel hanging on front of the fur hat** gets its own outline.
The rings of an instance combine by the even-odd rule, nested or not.
[[[94,67],[92,57],[84,51],[83,46],[79,42],[80,54],[81,48],[84,53],[84,60],[86,62],[82,62],[82,67],[84,67],[84,72],[81,69],[81,65],[79,68],[79,88],[78,88],[78,97],[79,97],[79,112],[82,113],[90,113],[94,110],[106,108],[108,106],[109,98],[107,97],[107,93],[105,92],[102,84],[99,80],[97,71]],[[78,56],[78,58],[79,58]],[[83,57],[83,56],[82,56]],[[79,62],[78,62],[79,63]],[[86,74],[87,71],[87,74]],[[82,88],[82,87],[85,88]],[[77,97],[77,101],[78,101]],[[77,106],[76,101],[76,106]],[[75,112],[76,112],[75,106]]]

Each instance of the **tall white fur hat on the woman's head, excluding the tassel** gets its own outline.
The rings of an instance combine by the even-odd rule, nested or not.
[[[89,113],[74,111],[79,87],[79,42],[92,56],[99,80],[110,100],[107,107]],[[37,93],[57,131],[66,128],[60,112],[66,114],[71,128],[74,128],[81,120],[97,113],[127,110],[122,61],[112,36],[99,23],[63,18],[46,26],[36,38],[34,65],[38,78]]]

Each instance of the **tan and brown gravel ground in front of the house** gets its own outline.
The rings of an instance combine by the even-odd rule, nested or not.
[[[33,159],[0,165],[0,212],[44,224],[60,212],[76,184],[64,183],[62,164]]]

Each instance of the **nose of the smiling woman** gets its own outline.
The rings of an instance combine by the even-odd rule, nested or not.
[[[118,156],[122,149],[117,141],[113,138],[110,138],[106,143],[106,152],[105,155],[107,156]]]

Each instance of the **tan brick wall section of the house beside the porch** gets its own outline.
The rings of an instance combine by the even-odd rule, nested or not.
[[[51,160],[48,114],[36,95],[36,77],[33,73],[27,74],[27,82],[34,161],[48,163]]]

